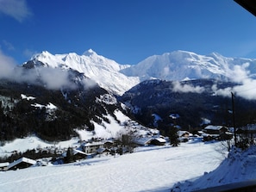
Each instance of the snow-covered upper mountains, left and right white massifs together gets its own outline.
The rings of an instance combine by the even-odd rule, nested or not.
[[[245,78],[256,78],[256,59],[227,58],[219,53],[199,55],[175,51],[153,55],[137,65],[121,65],[90,49],[82,55],[53,55],[45,51],[34,55],[30,63],[24,65],[28,66],[31,61],[36,67],[72,69],[84,73],[103,89],[120,96],[141,81],[153,78],[167,81],[214,78],[236,83]]]

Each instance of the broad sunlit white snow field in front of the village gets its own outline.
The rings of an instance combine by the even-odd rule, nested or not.
[[[175,183],[215,170],[220,143],[148,146],[122,156],[0,172],[0,191],[170,191]]]

